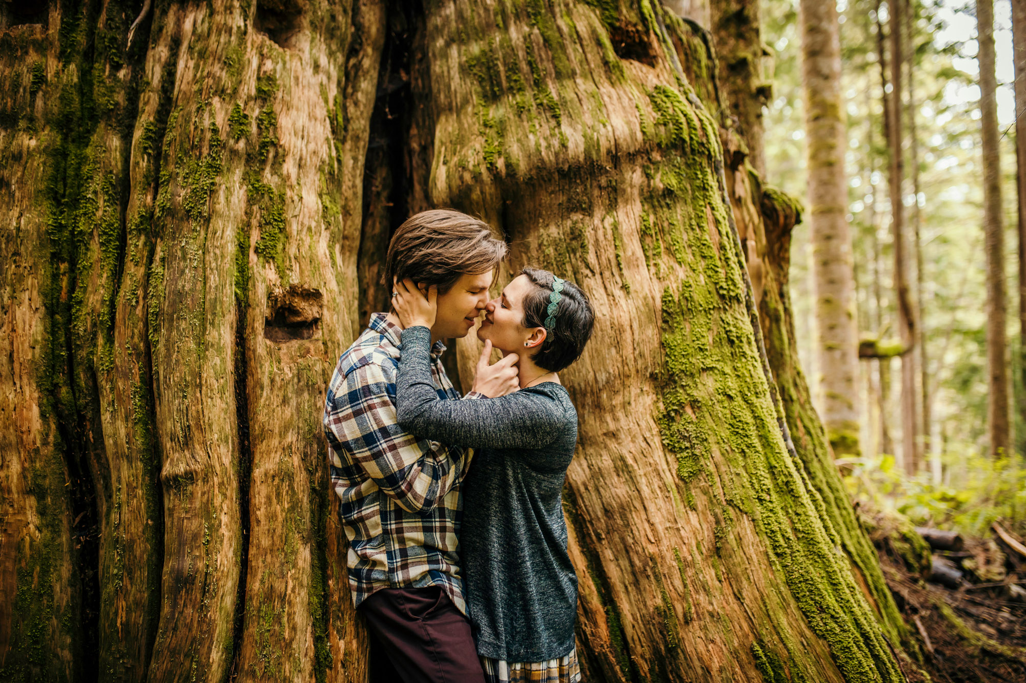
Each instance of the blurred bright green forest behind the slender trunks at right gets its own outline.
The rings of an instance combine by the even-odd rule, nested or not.
[[[766,0],[764,39],[773,48],[773,96],[765,110],[767,175],[804,197],[807,184],[801,93],[798,3]],[[894,235],[887,196],[887,140],[873,0],[840,0],[842,87],[849,149],[845,167],[852,227],[858,326],[863,339],[896,338]],[[983,166],[975,4],[961,0],[911,3],[911,54],[904,71],[903,203],[912,243],[910,281],[925,352],[900,360],[863,358],[859,373],[860,443],[847,484],[856,497],[897,509],[918,524],[981,533],[997,517],[1021,522],[1026,487],[1021,454],[1026,424],[1013,410],[1015,451],[987,455],[987,268],[983,252]],[[994,4],[997,118],[1001,169],[1008,357],[1016,403],[1026,399],[1021,344],[1013,309],[1018,290],[1016,103],[1013,91],[1012,4]],[[886,25],[886,5],[880,10]],[[885,31],[885,29],[884,29]],[[884,47],[886,58],[886,47]],[[886,66],[886,65],[885,65]],[[890,69],[890,67],[886,67]],[[907,76],[911,75],[911,85]],[[890,72],[889,74],[890,75]],[[914,121],[912,118],[914,117]],[[914,142],[912,136],[914,135]],[[917,173],[913,171],[917,170]],[[914,232],[913,232],[914,231]],[[810,223],[793,232],[791,295],[798,354],[814,402],[822,405],[822,371],[815,353],[816,315]],[[916,365],[919,442],[925,453],[917,476],[900,467],[900,364]],[[896,461],[897,458],[897,461]]]

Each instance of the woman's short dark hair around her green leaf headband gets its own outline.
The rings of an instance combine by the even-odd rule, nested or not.
[[[545,327],[549,317],[549,296],[555,276],[540,268],[529,266],[520,271],[535,286],[523,297],[523,326]],[[573,282],[563,282],[556,308],[555,324],[548,330],[545,342],[530,357],[540,368],[558,372],[581,357],[591,337],[595,314],[588,295]]]

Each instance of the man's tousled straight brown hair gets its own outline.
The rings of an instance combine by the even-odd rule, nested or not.
[[[392,236],[382,282],[391,289],[393,278],[409,278],[444,294],[460,276],[494,270],[507,250],[483,220],[452,209],[421,211]]]

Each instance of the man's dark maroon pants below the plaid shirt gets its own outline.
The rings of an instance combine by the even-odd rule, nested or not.
[[[483,683],[470,621],[439,586],[383,589],[360,603],[371,683]]]

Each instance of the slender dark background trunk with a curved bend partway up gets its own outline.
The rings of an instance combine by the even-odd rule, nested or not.
[[[913,350],[915,348],[915,310],[908,281],[908,239],[905,235],[905,217],[902,186],[905,179],[905,159],[902,151],[902,24],[904,2],[891,0],[887,4],[887,27],[891,45],[891,105],[889,108],[889,148],[891,152],[891,232],[894,235],[895,297],[898,305],[898,331],[906,352],[901,361],[901,415],[902,458],[905,473],[919,472],[918,417],[916,404],[916,376]]]

